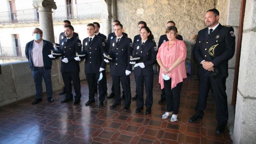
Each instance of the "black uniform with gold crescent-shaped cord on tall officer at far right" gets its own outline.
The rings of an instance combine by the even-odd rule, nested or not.
[[[208,28],[200,30],[193,49],[194,56],[199,63],[199,95],[195,111],[205,110],[208,92],[212,86],[216,103],[216,119],[222,126],[226,126],[228,121],[226,78],[228,76],[228,60],[235,52],[235,38],[232,27],[219,24],[210,36],[208,36]],[[214,53],[212,53],[213,51]],[[216,77],[212,77],[211,72],[203,68],[200,64],[202,60],[212,62],[214,70],[219,70]]]

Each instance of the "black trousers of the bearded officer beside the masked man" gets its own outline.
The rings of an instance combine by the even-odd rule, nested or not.
[[[73,94],[72,94],[72,84],[71,80],[73,82],[74,90],[76,93],[75,99],[80,100],[81,98],[81,89],[80,89],[80,78],[79,78],[79,71],[76,72],[62,72],[62,78],[64,81],[65,85],[65,90],[66,90],[66,98],[72,99]]]

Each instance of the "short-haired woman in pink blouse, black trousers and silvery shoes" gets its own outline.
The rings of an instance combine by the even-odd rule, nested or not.
[[[171,122],[178,121],[180,90],[183,78],[187,78],[185,67],[187,49],[183,40],[176,39],[177,32],[175,26],[166,28],[168,41],[160,46],[156,56],[160,65],[159,83],[166,93],[167,112],[162,115],[162,119],[172,115]]]

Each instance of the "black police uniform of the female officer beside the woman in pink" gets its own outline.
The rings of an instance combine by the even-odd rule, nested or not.
[[[140,55],[141,60],[145,65],[145,68],[137,66],[134,68],[134,75],[136,80],[136,90],[138,94],[138,107],[144,106],[144,82],[146,88],[146,107],[151,109],[153,103],[153,64],[156,62],[156,42],[152,40],[146,40],[142,45],[142,40],[134,43],[133,55]],[[139,63],[139,62],[137,62]]]

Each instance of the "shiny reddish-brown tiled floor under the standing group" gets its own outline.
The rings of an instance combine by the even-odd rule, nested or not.
[[[111,91],[111,77],[108,75],[108,94]],[[48,103],[44,94],[43,102],[32,105],[34,97],[0,107],[0,144],[231,144],[228,129],[216,134],[215,104],[212,94],[208,96],[204,118],[191,124],[188,118],[194,114],[198,95],[198,80],[185,79],[182,85],[178,122],[162,120],[166,106],[159,105],[160,85],[158,75],[154,76],[154,103],[152,113],[145,109],[135,113],[136,102],[124,112],[122,103],[114,110],[109,106],[114,99],[106,99],[103,107],[98,100],[85,106],[88,100],[87,82],[81,82],[80,105],[72,102],[61,104],[64,95],[54,92],[54,102]],[[132,96],[135,94],[134,75],[131,74]],[[144,94],[146,96],[146,94]]]

